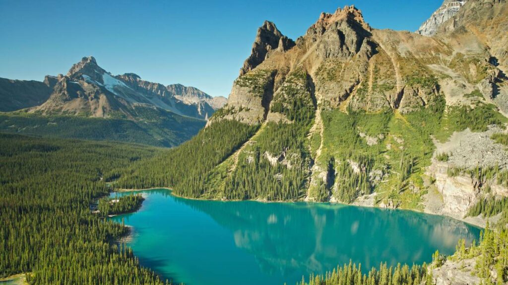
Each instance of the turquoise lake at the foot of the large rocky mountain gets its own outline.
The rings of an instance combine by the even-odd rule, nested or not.
[[[112,194],[116,195],[116,194]],[[446,217],[323,203],[221,202],[143,192],[128,243],[144,266],[187,285],[295,284],[351,260],[421,264],[480,229]]]

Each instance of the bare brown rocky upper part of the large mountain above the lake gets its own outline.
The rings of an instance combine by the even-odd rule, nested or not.
[[[440,95],[439,82],[423,63],[429,60],[424,57],[428,57],[429,50],[450,53],[437,40],[372,29],[354,6],[339,8],[333,14],[322,13],[289,50],[277,49],[280,37],[283,36],[270,22],[260,28],[253,52],[245,61],[228,101],[229,109],[245,113],[246,108],[248,113],[245,118],[241,114],[228,118],[251,123],[263,118],[284,120],[279,114],[263,114],[263,109],[268,110],[270,94],[276,94],[284,85],[285,77],[301,67],[312,81],[312,95],[325,108],[342,105],[344,110],[413,112],[432,104]],[[263,70],[273,74],[270,81],[242,79],[249,73],[252,73],[249,78],[257,77]],[[240,86],[241,82],[248,84]],[[253,97],[261,99],[253,100],[253,93],[258,93]]]

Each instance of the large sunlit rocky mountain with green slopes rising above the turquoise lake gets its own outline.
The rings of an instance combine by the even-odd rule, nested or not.
[[[471,210],[508,196],[507,21],[506,1],[469,0],[432,37],[374,29],[353,6],[322,13],[294,42],[265,22],[207,127],[119,185],[484,225]],[[164,171],[171,161],[181,163]]]

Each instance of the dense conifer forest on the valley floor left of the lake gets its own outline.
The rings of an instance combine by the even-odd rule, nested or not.
[[[104,177],[158,149],[0,134],[0,278],[30,284],[164,284],[91,213]]]

